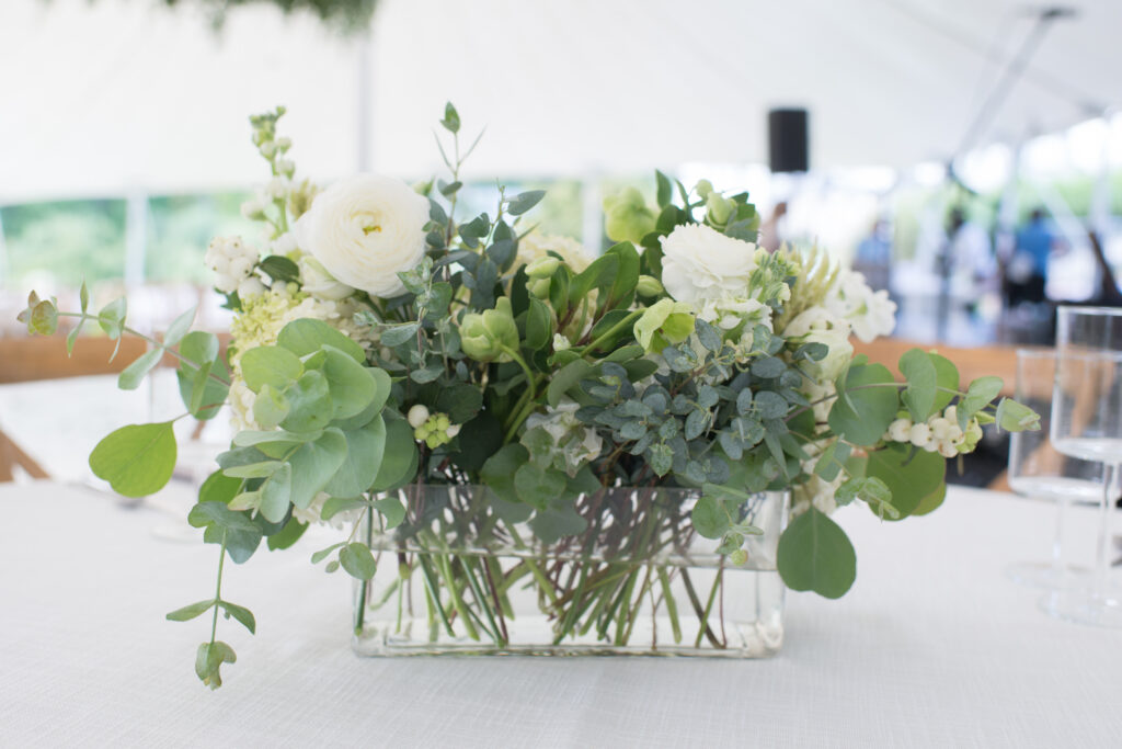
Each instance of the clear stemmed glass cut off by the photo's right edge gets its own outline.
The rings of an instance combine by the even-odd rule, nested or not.
[[[1060,307],[1051,441],[1061,454],[1103,464],[1103,493],[1089,588],[1046,596],[1049,613],[1122,629],[1122,595],[1110,579],[1111,519],[1122,466],[1122,309]]]

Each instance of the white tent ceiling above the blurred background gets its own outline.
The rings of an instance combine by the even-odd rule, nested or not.
[[[1122,2],[1072,0],[978,143],[1122,101]],[[811,111],[813,166],[946,159],[1031,34],[1008,0],[381,0],[364,55],[310,16],[156,0],[0,3],[0,203],[243,186],[246,116],[284,102],[301,171],[439,166],[451,99],[472,176],[766,159],[766,110]],[[364,64],[365,62],[365,64]],[[359,137],[366,86],[371,117]]]

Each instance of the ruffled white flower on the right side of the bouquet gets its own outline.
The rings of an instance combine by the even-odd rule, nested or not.
[[[680,226],[662,240],[662,285],[679,302],[743,298],[756,268],[756,246],[702,223]]]

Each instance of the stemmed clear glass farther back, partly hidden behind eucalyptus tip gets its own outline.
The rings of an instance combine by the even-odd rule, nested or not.
[[[1094,503],[1103,493],[1100,464],[1063,455],[1048,438],[1055,378],[1055,349],[1017,349],[1013,396],[1040,414],[1040,429],[1010,435],[1009,485],[1021,496],[1055,502],[1056,531],[1049,561],[1019,561],[1005,573],[1017,583],[1050,590],[1078,585],[1080,574],[1086,573],[1085,568],[1064,565],[1064,515],[1068,504],[1073,500]]]

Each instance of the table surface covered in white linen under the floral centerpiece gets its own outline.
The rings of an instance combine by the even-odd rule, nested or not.
[[[854,588],[789,594],[782,654],[744,661],[358,658],[348,581],[303,539],[228,565],[259,627],[222,622],[238,663],[211,692],[209,622],[164,613],[212,594],[217,547],[90,488],[0,485],[0,746],[1119,747],[1122,632],[1003,574],[1048,554],[1052,513],[958,488],[901,523],[846,508]],[[1088,556],[1094,514],[1068,527]]]

